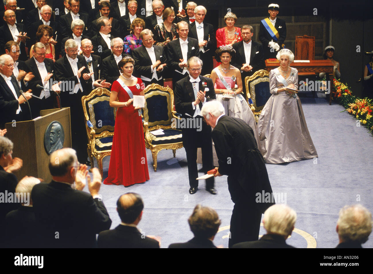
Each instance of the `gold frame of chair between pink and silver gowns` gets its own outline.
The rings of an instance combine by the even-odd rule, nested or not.
[[[257,80],[257,81],[252,82],[254,80]],[[251,82],[250,88],[249,88],[249,82]],[[249,104],[249,98],[251,98],[251,100],[253,101],[253,104],[249,104],[249,106],[254,113],[256,122],[258,122],[260,113],[264,107],[264,105],[261,105],[259,107],[257,107],[256,105],[255,84],[257,84],[257,82],[269,82],[269,72],[267,70],[260,69],[254,72],[253,75],[245,77],[246,98],[247,98],[246,100],[248,104]]]

